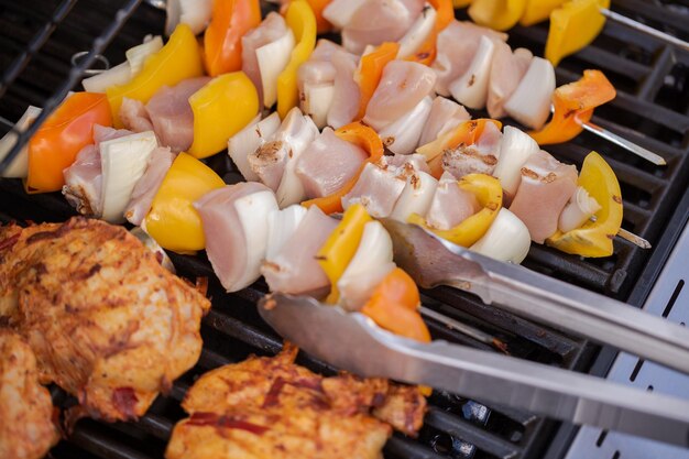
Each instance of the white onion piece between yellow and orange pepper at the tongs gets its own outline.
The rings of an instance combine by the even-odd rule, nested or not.
[[[360,309],[394,269],[392,238],[380,221],[369,221],[354,256],[337,283],[341,305],[349,310]]]

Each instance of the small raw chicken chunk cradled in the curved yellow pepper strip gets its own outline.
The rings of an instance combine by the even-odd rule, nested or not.
[[[457,179],[446,172],[438,182],[426,222],[431,228],[449,230],[478,212],[480,207],[475,196],[461,189]]]

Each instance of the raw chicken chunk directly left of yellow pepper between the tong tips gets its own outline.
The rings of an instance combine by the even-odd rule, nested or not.
[[[272,292],[313,296],[328,293],[330,282],[318,264],[316,253],[337,225],[338,220],[325,215],[317,206],[309,207],[277,255],[265,260],[261,266]]]

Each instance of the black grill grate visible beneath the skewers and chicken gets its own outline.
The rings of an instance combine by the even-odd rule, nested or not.
[[[123,59],[124,51],[140,43],[143,35],[162,31],[163,13],[139,3],[140,0],[0,0],[0,69],[4,73],[0,81],[0,122],[4,120],[0,132],[9,131],[11,123],[7,121],[19,119],[26,106],[54,106],[75,86],[80,73],[80,68],[70,65],[75,53],[95,48],[118,63]],[[613,9],[687,39],[689,7],[681,0],[619,0],[613,1]],[[516,28],[510,35],[513,47],[526,46],[542,55],[547,25]],[[91,63],[84,61],[77,66],[86,68]],[[559,66],[558,84],[576,79],[584,68],[601,68],[619,90],[613,102],[597,110],[593,121],[661,154],[668,165],[653,166],[589,133],[549,151],[578,166],[590,150],[603,154],[622,186],[624,228],[646,238],[657,249],[643,251],[617,239],[613,256],[583,260],[534,245],[524,264],[641,306],[672,249],[672,241],[686,225],[689,54],[608,23],[592,46]],[[241,179],[227,155],[211,157],[209,165],[228,183]],[[30,196],[24,194],[19,181],[0,179],[0,221],[62,221],[74,214],[59,194]],[[181,275],[210,280],[214,305],[203,323],[204,351],[198,364],[174,384],[168,395],[160,396],[138,423],[80,420],[73,435],[52,450],[53,458],[160,458],[174,423],[184,415],[179,402],[196,376],[218,365],[241,361],[251,353],[269,356],[281,349],[280,337],[255,309],[255,303],[266,291],[265,284],[259,282],[228,295],[203,254],[173,255],[173,261]],[[615,357],[608,349],[601,351],[586,340],[485,306],[451,288],[423,292],[422,299],[446,316],[502,339],[515,357],[601,375]],[[490,350],[433,320],[429,328],[436,339]],[[336,371],[305,354],[298,362],[326,374]],[[58,406],[75,403],[56,387],[52,387],[52,393]],[[567,450],[573,431],[571,426],[506,407],[486,406],[456,394],[434,392],[429,402],[419,438],[396,434],[385,447],[386,458],[537,458],[545,451],[555,458]]]

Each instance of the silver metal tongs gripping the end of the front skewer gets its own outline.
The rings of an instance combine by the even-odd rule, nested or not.
[[[689,373],[689,330],[614,299],[499,262],[392,220],[395,261],[420,286],[452,285],[521,316]],[[440,275],[445,273],[445,275]],[[689,401],[542,363],[390,334],[359,313],[273,294],[261,316],[338,368],[689,447]]]

